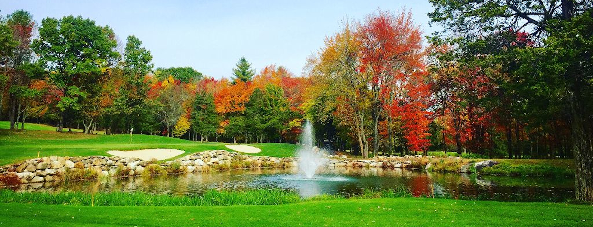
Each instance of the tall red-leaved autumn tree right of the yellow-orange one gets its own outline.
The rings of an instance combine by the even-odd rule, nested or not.
[[[369,73],[371,80],[371,116],[374,151],[379,150],[379,120],[384,106],[393,101],[410,74],[422,70],[422,32],[414,24],[410,12],[395,14],[379,11],[369,15],[358,28],[361,42],[362,73]],[[403,82],[403,83],[402,83]],[[399,87],[398,87],[399,86]]]

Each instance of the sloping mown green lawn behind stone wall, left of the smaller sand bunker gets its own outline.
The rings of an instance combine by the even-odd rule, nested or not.
[[[156,135],[84,135],[80,133],[53,131],[10,131],[0,129],[0,165],[17,163],[40,156],[90,156],[104,155],[109,150],[139,150],[148,148],[171,148],[186,151],[185,154],[207,150],[228,150],[220,142],[193,142]],[[182,156],[180,155],[180,156]]]

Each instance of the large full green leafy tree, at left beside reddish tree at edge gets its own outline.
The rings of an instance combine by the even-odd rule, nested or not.
[[[96,25],[93,20],[72,15],[45,18],[39,28],[39,38],[33,40],[38,63],[46,70],[47,80],[59,90],[60,110],[58,131],[62,131],[66,112],[81,109],[81,100],[88,96],[88,87],[97,85],[107,67],[119,53],[109,27]]]

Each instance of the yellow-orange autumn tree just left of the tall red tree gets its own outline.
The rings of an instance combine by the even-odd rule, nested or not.
[[[309,60],[308,73],[316,88],[315,92],[310,93],[308,106],[310,109],[317,109],[312,107],[318,103],[320,109],[326,109],[326,113],[340,108],[349,113],[335,116],[355,132],[361,154],[366,158],[369,147],[368,109],[371,100],[367,85],[371,77],[368,72],[359,70],[360,48],[361,42],[348,22],[344,24],[342,31],[326,38],[325,46],[318,56]],[[324,102],[318,102],[320,100]]]

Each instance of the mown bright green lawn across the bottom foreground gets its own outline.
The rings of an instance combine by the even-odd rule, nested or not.
[[[593,222],[593,207],[585,205],[418,198],[272,206],[0,203],[0,210],[0,222],[6,226],[591,226]]]

